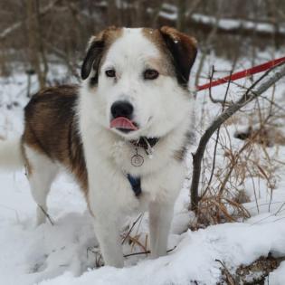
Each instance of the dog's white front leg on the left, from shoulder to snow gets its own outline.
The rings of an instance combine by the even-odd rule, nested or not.
[[[112,168],[106,161],[103,162],[100,166],[89,167],[88,204],[105,265],[121,268],[124,266],[124,259],[119,230],[123,215],[120,211],[120,194],[114,186],[119,185],[119,178],[115,175],[108,177],[108,173],[103,170],[110,169],[111,173]]]

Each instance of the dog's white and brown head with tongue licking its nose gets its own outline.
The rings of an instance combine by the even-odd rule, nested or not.
[[[162,137],[190,116],[193,37],[174,28],[109,27],[90,39],[81,78],[96,120],[120,136]]]

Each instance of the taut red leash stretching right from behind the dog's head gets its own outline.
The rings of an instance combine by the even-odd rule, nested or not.
[[[228,81],[236,81],[238,79],[241,79],[243,77],[247,77],[249,75],[253,75],[253,74],[256,74],[256,73],[259,73],[259,72],[262,72],[262,71],[266,71],[266,70],[269,70],[271,69],[273,66],[281,63],[281,62],[285,62],[285,57],[281,57],[280,59],[277,59],[277,60],[273,60],[273,61],[270,61],[270,62],[265,62],[265,63],[262,63],[260,65],[257,65],[257,66],[254,66],[252,67],[251,69],[248,69],[248,70],[244,70],[244,71],[239,71],[239,72],[236,72],[236,73],[233,73],[232,76],[225,76],[219,80],[216,80],[216,81],[212,81],[210,83],[206,83],[204,85],[200,85],[200,86],[197,86],[197,91],[200,91],[200,90],[204,90],[204,89],[210,89],[214,86],[217,86],[217,85],[221,85],[225,82],[228,82]]]

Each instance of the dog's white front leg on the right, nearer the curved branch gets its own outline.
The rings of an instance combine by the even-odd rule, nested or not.
[[[149,204],[149,232],[151,257],[166,255],[168,233],[173,218],[174,204]]]

